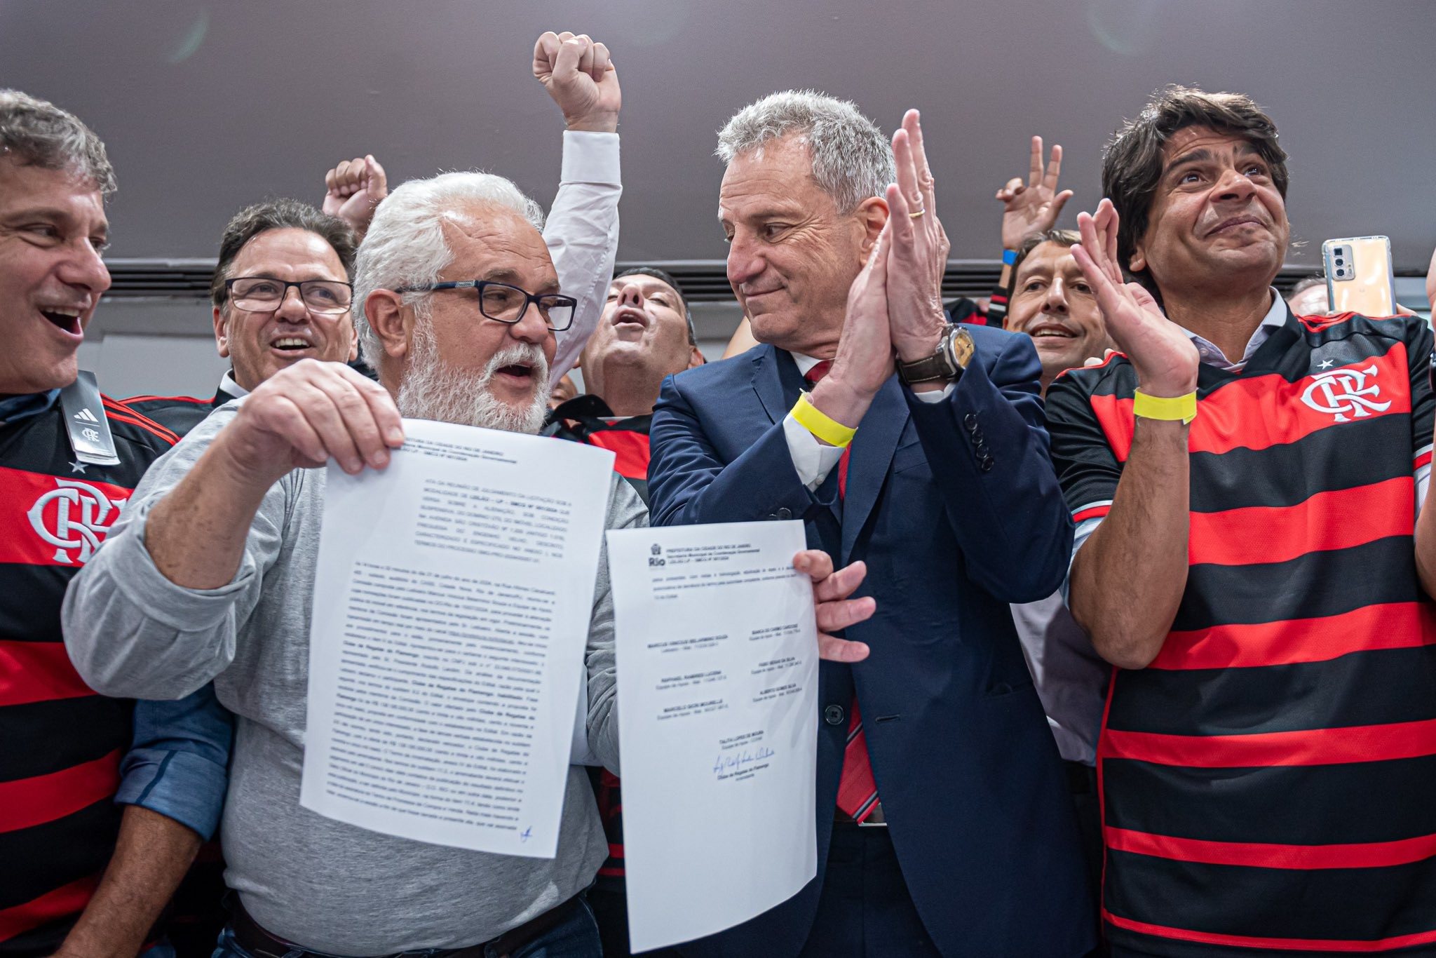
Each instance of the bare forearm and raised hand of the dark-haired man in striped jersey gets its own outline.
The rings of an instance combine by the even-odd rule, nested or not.
[[[1186,333],[1117,267],[1117,211],[1077,217],[1073,256],[1097,292],[1107,333],[1137,372],[1137,389],[1176,398],[1196,391],[1199,358]],[[1068,606],[1101,658],[1146,668],[1162,651],[1186,589],[1190,526],[1189,425],[1139,418],[1111,510],[1077,550]]]

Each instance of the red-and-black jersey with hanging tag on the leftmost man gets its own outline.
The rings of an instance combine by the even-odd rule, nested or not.
[[[70,665],[60,603],[169,429],[103,399],[119,465],[70,451],[59,402],[0,422],[0,955],[47,955],[115,849],[134,702]]]

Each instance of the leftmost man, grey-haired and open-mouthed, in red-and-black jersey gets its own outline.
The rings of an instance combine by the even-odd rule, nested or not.
[[[93,389],[60,395],[109,287],[113,190],[79,119],[0,90],[0,955],[172,955],[152,926],[224,801],[214,695],[98,695],[60,635],[66,585],[177,441]],[[119,461],[76,452],[70,418],[88,441],[108,424]]]

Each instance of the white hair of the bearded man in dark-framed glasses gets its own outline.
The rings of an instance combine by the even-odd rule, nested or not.
[[[428,180],[409,180],[375,210],[369,233],[355,259],[355,329],[365,359],[375,369],[383,356],[379,336],[369,326],[365,302],[379,289],[404,289],[437,283],[454,261],[444,240],[444,221],[475,203],[513,210],[543,230],[543,210],[510,180],[491,172],[444,172]],[[405,293],[419,316],[428,315],[426,293]]]

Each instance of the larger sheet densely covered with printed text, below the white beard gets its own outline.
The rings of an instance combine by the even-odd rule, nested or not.
[[[613,454],[404,421],[330,464],[300,804],[385,834],[553,857]]]

